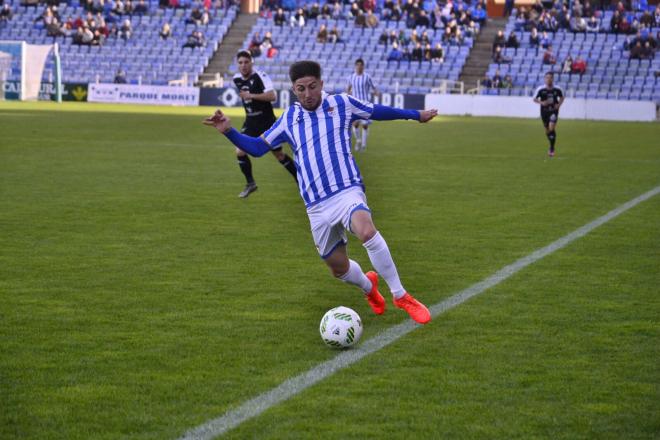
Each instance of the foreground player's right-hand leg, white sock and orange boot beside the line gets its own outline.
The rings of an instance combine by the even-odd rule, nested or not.
[[[371,264],[385,279],[394,297],[394,305],[404,309],[413,320],[420,324],[429,322],[431,314],[426,306],[403,288],[392,254],[385,239],[376,229],[366,205],[353,208],[350,214],[350,230],[362,242]]]

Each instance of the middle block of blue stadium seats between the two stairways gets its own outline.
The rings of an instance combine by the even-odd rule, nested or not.
[[[279,20],[280,25],[276,24],[273,18],[277,14],[277,6],[272,9],[266,8],[244,41],[246,48],[254,47],[253,39],[256,34],[258,39],[263,39],[263,36],[270,33],[272,46],[276,48],[277,53],[269,57],[265,51],[260,50],[259,52],[264,53],[261,53],[257,63],[271,75],[276,88],[289,86],[287,73],[291,62],[301,58],[311,58],[323,62],[325,89],[334,92],[343,91],[346,89],[348,76],[353,72],[355,60],[362,58],[381,91],[429,93],[443,80],[458,80],[473,45],[473,37],[479,32],[480,24],[477,19],[481,22],[486,19],[485,9],[480,7],[484,15],[477,17],[473,8],[463,2],[457,2],[453,8],[449,5],[450,10],[445,10],[444,18],[440,18],[443,13],[440,7],[432,2],[426,2],[425,14],[418,14],[417,18],[419,15],[426,15],[430,19],[428,23],[424,23],[425,25],[419,25],[425,20],[411,21],[414,16],[405,12],[400,20],[390,20],[392,12],[387,5],[374,3],[374,15],[377,20],[374,20],[374,25],[370,27],[356,23],[359,22],[357,17],[362,13],[351,12],[349,5],[344,5],[339,12],[331,13],[330,17],[324,17],[323,14],[316,16],[312,12],[314,6],[309,7],[308,4],[303,3],[302,7],[303,11],[307,11],[304,13],[306,18],[302,22],[299,20],[300,10],[290,6],[288,9],[291,11],[284,12],[285,17]],[[451,23],[454,19],[457,19],[457,22]],[[473,22],[472,26],[469,25],[470,21]],[[300,26],[302,23],[304,25]],[[339,40],[334,43],[317,41],[323,26],[327,30],[336,28],[339,32]],[[450,28],[450,38],[443,38],[446,28]],[[459,35],[463,34],[465,37],[456,38],[456,29],[459,29]],[[397,46],[402,52],[400,61],[388,61],[393,48],[393,39],[386,37],[392,32],[396,34]],[[411,59],[415,56],[413,53],[415,35],[421,40],[424,33],[431,48],[436,48],[438,43],[441,44],[442,62],[438,59],[428,60],[424,54],[422,61]],[[230,71],[235,70],[235,64],[230,66]]]

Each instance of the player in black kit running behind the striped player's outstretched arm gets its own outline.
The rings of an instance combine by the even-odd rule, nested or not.
[[[264,72],[252,68],[252,55],[246,50],[236,55],[239,72],[234,75],[234,84],[239,90],[245,108],[245,123],[241,133],[247,136],[258,137],[275,123],[273,104],[277,99],[273,83]],[[296,179],[296,167],[289,155],[282,151],[282,147],[271,149],[271,153],[280,161],[282,166]],[[252,176],[252,162],[243,150],[236,149],[238,166],[241,169],[247,184],[245,189],[238,195],[241,198],[249,196],[257,190],[257,184]]]

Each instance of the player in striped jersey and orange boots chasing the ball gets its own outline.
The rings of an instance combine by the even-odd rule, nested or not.
[[[392,292],[394,305],[418,323],[429,322],[429,310],[403,287],[387,243],[374,226],[360,170],[351,154],[350,126],[359,119],[427,122],[437,115],[437,110],[400,110],[346,94],[325,94],[321,66],[314,61],[294,63],[289,76],[298,102],[285,110],[261,137],[239,133],[220,110],[205,119],[204,124],[215,127],[234,145],[254,156],[262,156],[273,146],[288,142],[312,237],[332,274],[358,286],[374,313],[380,315],[385,311],[385,300],[378,291],[378,273],[365,274],[357,262],[348,258],[348,230],[366,248],[371,264]]]

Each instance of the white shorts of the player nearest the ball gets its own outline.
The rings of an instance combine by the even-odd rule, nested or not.
[[[321,258],[328,258],[337,246],[347,243],[355,211],[371,212],[362,188],[352,187],[307,209],[312,238]]]

